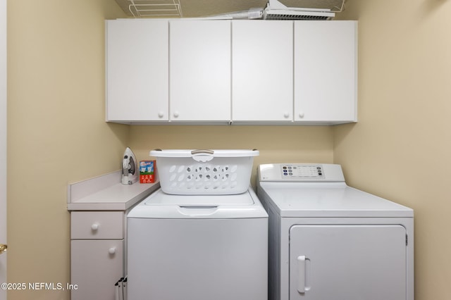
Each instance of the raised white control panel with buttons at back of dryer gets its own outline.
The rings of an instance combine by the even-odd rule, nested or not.
[[[258,173],[260,181],[345,182],[341,166],[328,163],[273,163]]]

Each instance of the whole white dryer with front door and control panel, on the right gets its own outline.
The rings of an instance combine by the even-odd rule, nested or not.
[[[414,211],[348,187],[340,165],[259,165],[270,300],[413,300]]]

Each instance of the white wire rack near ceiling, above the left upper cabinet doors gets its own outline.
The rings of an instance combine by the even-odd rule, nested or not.
[[[135,18],[183,17],[179,0],[128,0],[128,10]]]

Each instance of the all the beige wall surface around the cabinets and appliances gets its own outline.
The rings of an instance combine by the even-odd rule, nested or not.
[[[69,281],[68,182],[117,170],[125,146],[257,148],[255,164],[342,163],[350,185],[415,209],[416,299],[451,282],[451,3],[348,0],[359,20],[359,123],[104,123],[104,19],[114,0],[8,0],[8,281]],[[69,299],[10,292],[9,300]]]

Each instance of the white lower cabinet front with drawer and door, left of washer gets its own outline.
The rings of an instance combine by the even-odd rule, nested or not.
[[[114,300],[114,284],[124,276],[125,213],[70,213],[71,300]]]

